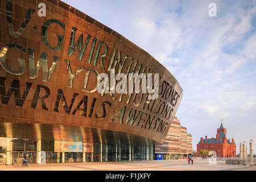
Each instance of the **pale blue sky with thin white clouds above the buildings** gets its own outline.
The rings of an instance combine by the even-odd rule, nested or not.
[[[192,134],[256,143],[256,1],[62,0],[125,36],[184,90],[176,116]],[[209,3],[217,16],[210,17]],[[254,150],[254,154],[256,154]]]

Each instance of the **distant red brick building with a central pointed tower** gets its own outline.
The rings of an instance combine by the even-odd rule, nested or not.
[[[226,128],[222,123],[220,128],[217,129],[216,138],[201,137],[200,142],[197,144],[197,155],[200,150],[215,151],[219,157],[235,157],[236,156],[236,143],[234,138],[232,140],[226,137]]]

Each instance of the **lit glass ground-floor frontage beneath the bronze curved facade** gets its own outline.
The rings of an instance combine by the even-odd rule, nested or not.
[[[8,144],[10,155],[6,157]],[[29,163],[43,160],[46,163],[154,160],[154,146],[0,138],[0,164],[5,164],[8,158],[11,158],[8,164],[22,164],[27,154]]]

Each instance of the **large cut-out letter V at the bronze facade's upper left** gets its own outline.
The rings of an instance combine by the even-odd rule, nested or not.
[[[18,31],[14,31],[13,26],[13,2],[10,0],[6,0],[6,18],[7,18],[7,25],[9,28],[9,33],[13,38],[18,38],[22,32],[25,30],[28,22],[30,22],[31,15],[35,13],[35,10],[32,10],[30,8],[27,9],[26,17],[24,18],[24,21],[22,22],[21,26],[19,27]]]

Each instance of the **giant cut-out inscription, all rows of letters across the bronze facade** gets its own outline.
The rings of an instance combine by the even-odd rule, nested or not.
[[[30,22],[31,15],[35,13],[35,10],[32,10],[30,8],[27,9],[27,14],[26,17],[24,18],[24,21],[22,25],[18,28],[18,30],[15,32],[14,31],[14,26],[13,26],[13,2],[6,0],[6,15],[7,15],[7,26],[9,28],[9,34],[13,38],[18,38],[20,35],[22,35],[23,31],[26,30],[27,24]],[[42,42],[46,44],[46,46],[49,49],[52,49],[53,51],[60,51],[62,47],[64,46],[64,36],[56,34],[57,36],[57,46],[53,47],[51,44],[48,42],[48,35],[47,31],[48,28],[51,24],[56,24],[56,26],[60,26],[60,28],[65,31],[66,24],[61,22],[60,20],[57,19],[49,19],[46,20],[46,22],[43,23],[42,29],[41,29],[41,38]],[[106,111],[108,108],[112,106],[112,102],[110,101],[103,101],[100,103],[101,108],[102,108],[102,114],[101,116],[99,113],[93,114],[94,107],[96,105],[97,98],[93,97],[90,98],[91,104],[89,104],[89,95],[86,95],[87,93],[93,93],[96,92],[98,88],[103,86],[104,92],[100,92],[101,96],[104,97],[106,93],[109,93],[110,95],[110,100],[118,100],[119,102],[122,102],[123,104],[131,104],[133,107],[128,108],[128,106],[123,106],[123,109],[121,109],[117,114],[114,115],[112,119],[110,119],[110,122],[114,122],[115,120],[119,119],[119,123],[123,124],[128,124],[130,125],[135,125],[137,127],[144,127],[144,129],[148,130],[157,130],[160,133],[164,133],[166,130],[166,126],[168,125],[168,119],[172,115],[174,115],[174,109],[179,101],[180,94],[175,90],[175,85],[170,84],[166,80],[162,81],[161,88],[162,90],[159,90],[159,84],[158,81],[156,81],[156,78],[158,80],[158,73],[155,73],[152,71],[150,68],[148,68],[146,65],[143,65],[142,63],[139,63],[138,60],[135,60],[133,57],[130,57],[129,55],[122,55],[122,52],[116,48],[113,47],[113,53],[112,56],[109,55],[109,48],[108,45],[101,41],[97,40],[97,38],[92,38],[89,34],[86,36],[86,40],[84,40],[84,35],[81,34],[79,36],[79,39],[77,42],[75,42],[75,37],[76,37],[76,32],[77,28],[72,27],[71,30],[71,36],[70,36],[70,42],[69,42],[69,48],[68,48],[68,56],[72,56],[72,58],[75,56],[74,52],[78,51],[77,53],[77,59],[78,60],[84,60],[84,55],[86,54],[86,51],[88,51],[88,44],[92,43],[92,46],[89,49],[89,56],[86,61],[81,61],[81,63],[84,64],[93,64],[93,67],[97,67],[97,63],[100,60],[100,67],[101,70],[105,70],[109,75],[110,75],[110,86],[106,84],[105,81],[101,82],[102,78],[102,73],[99,73],[96,69],[93,68],[85,68],[85,65],[81,65],[77,71],[72,71],[72,61],[68,59],[64,59],[64,64],[67,66],[67,73],[68,73],[68,83],[67,87],[68,88],[73,88],[73,82],[76,81],[77,75],[82,74],[82,72],[85,72],[85,77],[84,77],[84,82],[81,84],[81,90],[85,92],[81,96],[79,96],[78,93],[73,92],[73,97],[69,104],[66,101],[63,88],[57,88],[57,94],[56,94],[56,100],[55,102],[53,101],[53,104],[55,104],[53,111],[56,111],[59,113],[59,103],[62,102],[61,105],[64,107],[64,112],[66,114],[73,114],[75,115],[77,111],[82,111],[81,116],[82,117],[89,117],[89,118],[96,118],[96,119],[101,119],[106,117]],[[65,34],[66,35],[66,34]],[[96,46],[97,44],[97,46]],[[11,75],[22,75],[24,73],[25,69],[25,60],[18,58],[18,71],[14,71],[13,69],[10,69],[7,61],[6,61],[6,55],[7,52],[12,49],[16,48],[22,53],[28,52],[28,68],[29,68],[29,77],[31,79],[35,79],[36,77],[39,77],[38,75],[40,74],[39,72],[42,70],[42,80],[44,82],[50,82],[51,76],[54,74],[55,68],[58,64],[60,64],[60,57],[54,56],[53,55],[53,61],[51,64],[51,67],[48,69],[48,62],[49,62],[49,56],[47,52],[41,52],[40,57],[38,61],[35,61],[35,49],[33,47],[28,47],[24,48],[23,46],[19,44],[14,44],[14,43],[9,43],[5,44],[0,51],[0,64],[2,65],[3,69],[7,73],[10,73]],[[94,53],[96,49],[96,52]],[[100,54],[102,52],[102,54]],[[74,55],[73,55],[74,54]],[[105,65],[105,60],[110,58],[110,63],[108,67]],[[36,62],[36,63],[35,63]],[[42,68],[42,69],[41,69]],[[135,76],[135,85],[132,85],[130,90],[137,90],[137,91],[142,91],[143,93],[143,81],[144,78],[141,77],[140,75],[146,75],[151,74],[154,76],[154,81],[150,79],[151,85],[147,88],[153,88],[151,89],[152,92],[148,93],[143,93],[141,96],[137,91],[135,93],[133,92],[117,92],[113,93],[113,85],[111,76],[113,73],[117,72],[118,74],[123,74],[125,77],[129,77],[129,81],[133,80],[129,76],[129,74],[133,73]],[[92,74],[97,77],[96,80],[92,80]],[[106,73],[105,73],[106,74]],[[106,75],[108,75],[106,74]],[[106,76],[105,75],[105,76]],[[114,74],[115,75],[115,74]],[[160,77],[161,79],[161,77]],[[31,88],[32,83],[31,82],[26,82],[26,85],[20,86],[20,81],[19,80],[13,80],[13,82],[10,85],[10,88],[7,90],[6,85],[5,85],[5,77],[0,77],[0,91],[1,91],[1,102],[2,104],[7,105],[10,97],[14,93],[15,95],[15,104],[17,106],[22,107],[27,95],[33,91]],[[118,79],[114,79],[114,85],[123,85],[122,81],[119,81],[118,83],[116,82]],[[138,86],[136,85],[137,83],[142,84],[142,88],[138,89]],[[95,86],[94,86],[94,85]],[[94,88],[88,88],[88,85],[93,85]],[[130,84],[129,84],[130,86]],[[23,94],[20,94],[20,88],[24,88]],[[127,85],[123,85],[122,89],[125,90],[127,88]],[[77,87],[76,87],[77,89]],[[43,92],[45,91],[46,94],[44,96],[41,96]],[[7,91],[7,92],[6,92]],[[101,90],[102,91],[102,90]],[[40,94],[41,92],[41,94]],[[99,92],[99,90],[98,90]],[[32,98],[31,101],[31,108],[35,109],[36,105],[38,103],[38,100],[40,100],[42,109],[43,110],[48,110],[49,105],[47,105],[47,98],[50,96],[50,89],[42,84],[36,84],[35,90],[34,90],[34,97]],[[119,99],[118,99],[118,94],[119,94]],[[154,96],[155,94],[156,97]],[[128,96],[124,97],[124,96]],[[158,97],[162,96],[162,97]],[[80,97],[80,99],[79,99]],[[124,101],[127,99],[127,101]],[[73,104],[77,102],[76,107],[73,107]],[[49,102],[48,102],[49,103]],[[142,109],[142,110],[141,110]],[[145,111],[150,112],[151,114],[145,113]],[[113,111],[114,113],[114,111]],[[125,121],[125,115],[126,115],[126,122]],[[161,119],[161,117],[163,117]],[[167,120],[167,121],[164,121]],[[131,121],[131,122],[130,122]],[[137,122],[137,124],[135,124]],[[144,124],[142,125],[142,123]],[[156,126],[158,123],[158,126]]]

